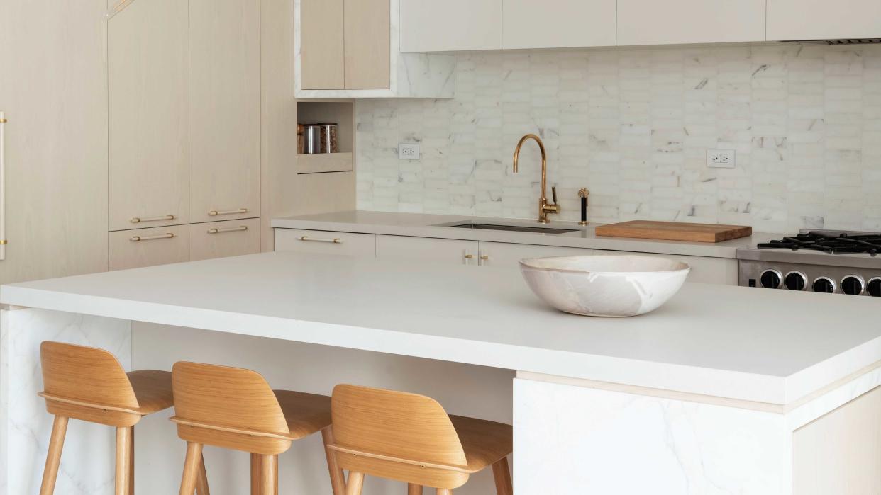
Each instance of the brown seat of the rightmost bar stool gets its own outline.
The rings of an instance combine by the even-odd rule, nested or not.
[[[495,421],[449,415],[455,433],[459,434],[470,474],[499,462],[514,450],[513,428]]]

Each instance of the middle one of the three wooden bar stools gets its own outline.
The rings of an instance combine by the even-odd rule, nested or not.
[[[325,446],[333,441],[330,397],[272,390],[263,376],[242,368],[192,362],[174,363],[174,418],[177,434],[187,440],[181,495],[198,481],[198,462],[204,445],[243,450],[251,454],[251,493],[278,493],[278,454],[321,431]],[[330,484],[344,495],[345,478],[336,458],[325,447]]]

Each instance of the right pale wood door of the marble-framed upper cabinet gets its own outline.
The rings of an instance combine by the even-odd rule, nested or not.
[[[344,78],[347,90],[391,87],[389,0],[344,0]]]

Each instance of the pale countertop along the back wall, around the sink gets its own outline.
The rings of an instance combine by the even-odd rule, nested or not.
[[[281,229],[334,230],[337,232],[358,232],[389,236],[436,237],[499,243],[540,244],[611,251],[653,252],[684,256],[705,256],[709,258],[736,258],[737,248],[748,247],[757,243],[766,243],[771,239],[782,237],[780,234],[754,233],[751,237],[742,237],[716,244],[634,239],[628,237],[596,237],[596,225],[581,227],[577,222],[554,222],[553,220],[551,223],[540,226],[556,229],[577,229],[577,231],[565,234],[540,234],[506,230],[451,229],[445,226],[446,224],[455,225],[466,222],[527,225],[529,227],[540,225],[529,220],[478,216],[345,211],[275,218],[272,220],[272,227]]]

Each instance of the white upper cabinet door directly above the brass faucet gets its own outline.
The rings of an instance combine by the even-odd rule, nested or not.
[[[504,0],[502,47],[615,46],[615,0]]]

